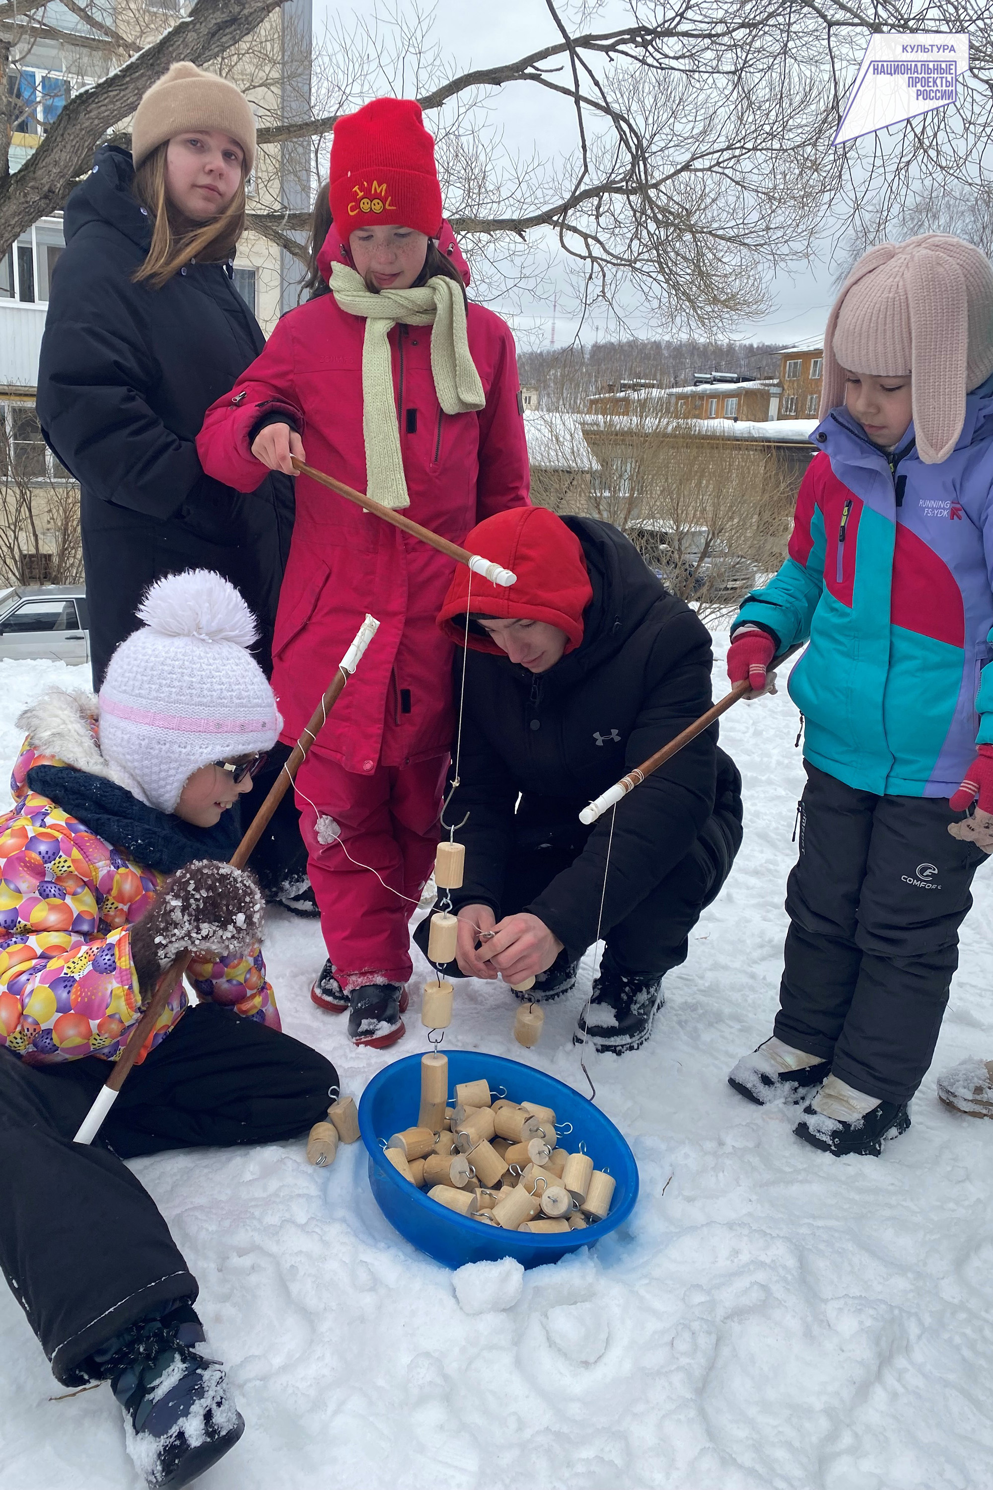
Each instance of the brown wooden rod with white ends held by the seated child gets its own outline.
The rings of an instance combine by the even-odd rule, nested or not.
[[[366,615],[365,621],[359,627],[359,632],[356,633],[351,647],[338,663],[338,672],[335,673],[333,681],[328,688],[328,691],[325,693],[323,699],[314,709],[310,718],[310,724],[302,732],[301,738],[293,746],[289,760],[283,766],[283,770],[272,782],[272,787],[269,788],[265,802],[262,803],[255,818],[249,824],[249,831],[244,834],[237,849],[231,855],[229,863],[234,864],[235,869],[244,869],[249,855],[252,854],[252,849],[255,848],[255,845],[262,837],[262,833],[265,831],[266,822],[278,808],[287,788],[292,785],[293,778],[296,776],[296,772],[299,770],[302,761],[307,758],[307,752],[314,744],[317,735],[320,733],[325,720],[335,706],[348,678],[359,666],[363,651],[366,650],[366,647],[369,645],[378,629],[380,623],[372,615]],[[155,985],[155,992],[152,994],[152,998],[149,1000],[144,1013],[141,1015],[138,1022],[131,1027],[128,1043],[121,1052],[121,1056],[110,1067],[110,1076],[97,1092],[92,1107],[89,1109],[82,1123],[79,1125],[79,1132],[76,1134],[73,1143],[92,1143],[97,1134],[100,1132],[103,1120],[113,1107],[113,1104],[116,1103],[118,1092],[127,1082],[131,1067],[134,1065],[138,1055],[144,1049],[146,1042],[150,1040],[150,1037],[155,1034],[155,1027],[162,1016],[162,1010],[165,1009],[170,998],[179,988],[192,958],[194,958],[192,952],[180,952],[179,957],[170,963],[170,966],[159,977],[158,983]]]

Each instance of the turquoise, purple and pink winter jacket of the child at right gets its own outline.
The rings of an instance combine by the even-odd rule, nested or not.
[[[777,651],[804,754],[849,787],[948,797],[993,744],[993,378],[962,437],[925,465],[913,425],[887,456],[844,408],[813,432],[789,557],[741,606]]]

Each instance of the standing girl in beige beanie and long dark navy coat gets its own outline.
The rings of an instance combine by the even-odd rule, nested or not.
[[[131,145],[103,146],[68,200],[37,392],[45,438],[82,486],[94,684],[143,592],[186,568],[238,589],[268,673],[292,486],[261,472],[241,496],[204,474],[195,446],[205,410],[265,346],[231,264],[255,116],[234,83],[176,63],[141,98]],[[277,751],[266,775],[280,766]],[[307,854],[292,802],[261,852],[252,867],[269,898],[287,887],[299,907]]]

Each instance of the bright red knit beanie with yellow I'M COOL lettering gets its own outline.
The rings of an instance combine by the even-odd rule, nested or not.
[[[435,139],[414,98],[374,98],[338,119],[331,139],[331,216],[344,243],[356,228],[377,224],[438,237]]]

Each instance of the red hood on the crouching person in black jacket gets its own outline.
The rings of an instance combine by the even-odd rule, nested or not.
[[[503,648],[488,636],[478,632],[466,635],[466,597],[472,580],[470,609],[475,615],[548,621],[569,638],[567,653],[579,647],[582,612],[593,600],[593,586],[582,544],[561,517],[546,507],[515,507],[476,523],[463,547],[512,569],[517,584],[503,589],[459,565],[438,612],[438,627],[445,636],[459,645],[467,644],[473,651],[503,656]]]

